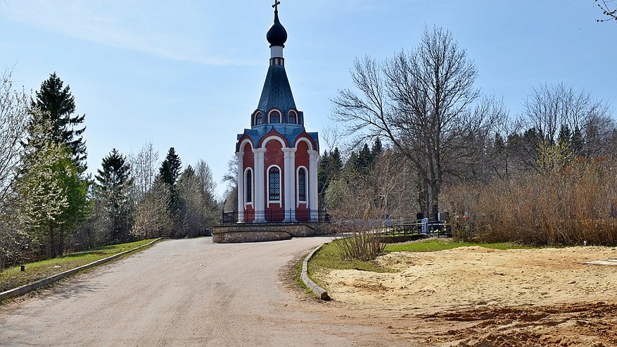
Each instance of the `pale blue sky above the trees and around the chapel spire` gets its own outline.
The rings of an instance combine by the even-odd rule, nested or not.
[[[90,172],[113,148],[129,155],[152,142],[185,167],[205,160],[222,196],[265,80],[273,3],[0,0],[0,64],[32,94],[52,72],[70,85]],[[281,0],[279,16],[308,132],[337,126],[330,99],[351,87],[355,58],[412,49],[433,26],[452,32],[478,69],[475,86],[511,116],[543,83],[616,101],[617,23],[596,23],[593,0]]]

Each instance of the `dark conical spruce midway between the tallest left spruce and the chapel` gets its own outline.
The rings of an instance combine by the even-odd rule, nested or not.
[[[129,193],[132,184],[127,158],[113,149],[103,158],[96,175],[97,201],[102,203],[111,242],[127,241],[129,236]]]

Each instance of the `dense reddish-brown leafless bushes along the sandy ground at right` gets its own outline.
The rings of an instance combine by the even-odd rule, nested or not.
[[[556,170],[447,189],[459,239],[524,244],[617,244],[617,166],[578,160]],[[464,218],[469,216],[469,218]]]

